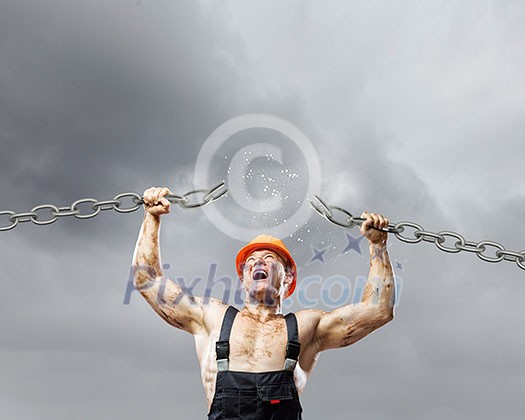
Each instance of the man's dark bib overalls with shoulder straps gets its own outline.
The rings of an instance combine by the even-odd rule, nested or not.
[[[208,420],[301,420],[303,410],[293,379],[301,350],[295,315],[285,316],[288,344],[283,370],[253,373],[229,370],[230,333],[237,312],[229,306],[222,321],[216,344],[217,383]]]

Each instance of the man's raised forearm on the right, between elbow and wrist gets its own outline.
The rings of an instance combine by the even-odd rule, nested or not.
[[[380,312],[391,317],[394,310],[395,280],[386,241],[370,243],[370,272],[362,302],[378,305]]]

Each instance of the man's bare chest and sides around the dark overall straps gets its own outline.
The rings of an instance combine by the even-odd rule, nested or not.
[[[206,333],[195,335],[195,347],[201,368],[208,407],[215,393],[217,361],[215,343],[219,338],[224,305],[210,309],[206,314]],[[318,353],[312,345],[312,335],[318,320],[318,311],[296,313],[301,342],[299,363],[294,371],[295,386],[301,394],[307,377],[312,372]],[[242,372],[269,372],[282,370],[286,353],[287,330],[283,315],[257,319],[241,310],[233,323],[230,338],[230,370]]]

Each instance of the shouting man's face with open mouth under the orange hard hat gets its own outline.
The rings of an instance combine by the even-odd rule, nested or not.
[[[254,251],[245,261],[244,289],[259,302],[273,302],[284,290],[286,278],[284,261],[273,251]]]

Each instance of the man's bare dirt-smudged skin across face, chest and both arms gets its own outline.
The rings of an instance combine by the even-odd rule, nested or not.
[[[159,249],[160,217],[169,213],[170,203],[164,196],[170,193],[167,188],[149,188],[144,192],[146,211],[133,255],[134,283],[162,319],[193,335],[209,408],[217,375],[215,343],[227,305],[217,299],[191,296],[164,277]],[[370,226],[387,226],[388,220],[366,212],[362,217],[366,221],[361,233],[369,240],[371,256],[362,301],[331,312],[296,312],[301,353],[294,379],[299,394],[321,351],[353,344],[393,319],[394,275],[386,234],[370,230]],[[256,265],[269,273],[267,279],[254,279]],[[244,307],[235,318],[230,339],[231,370],[265,372],[283,368],[287,331],[282,302],[291,278],[284,261],[270,250],[257,250],[248,257],[241,279],[246,291]]]

